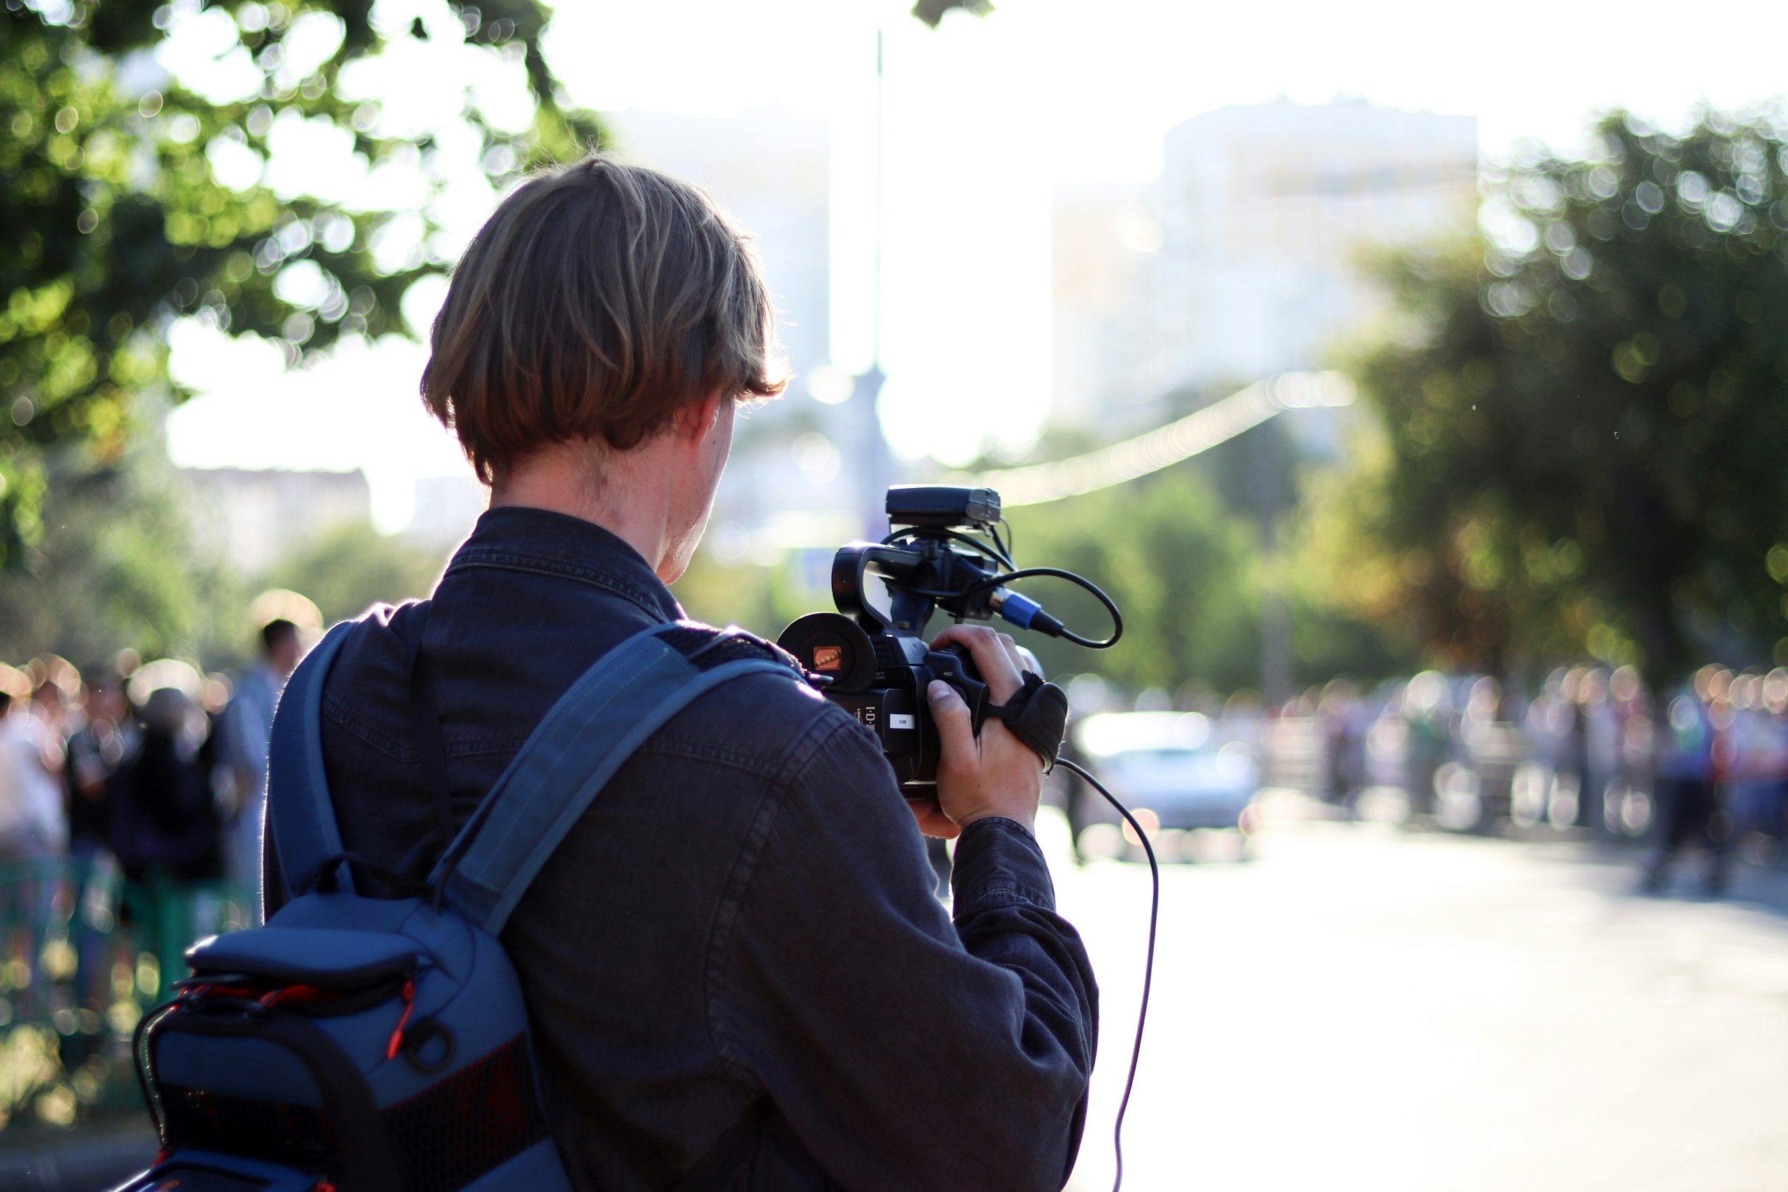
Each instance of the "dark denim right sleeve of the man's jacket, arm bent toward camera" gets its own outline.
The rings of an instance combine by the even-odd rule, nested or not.
[[[951,922],[874,738],[842,717],[824,729],[747,844],[737,919],[717,924],[722,1062],[846,1188],[1062,1187],[1098,990],[1037,842],[973,824]]]

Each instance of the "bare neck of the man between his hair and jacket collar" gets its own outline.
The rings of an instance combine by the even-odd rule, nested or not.
[[[492,488],[490,508],[520,506],[594,522],[640,552],[656,570],[669,545],[669,472],[647,459],[651,443],[633,452],[608,452],[560,443],[515,465]],[[601,468],[601,472],[597,472]]]

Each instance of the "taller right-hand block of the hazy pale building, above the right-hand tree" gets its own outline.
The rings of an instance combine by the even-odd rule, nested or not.
[[[1362,250],[1470,229],[1477,118],[1364,100],[1221,107],[1171,129],[1159,315],[1177,384],[1321,365],[1382,309]]]

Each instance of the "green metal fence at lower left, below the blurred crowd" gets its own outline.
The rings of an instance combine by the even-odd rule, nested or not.
[[[0,861],[0,1131],[141,1103],[131,1033],[202,936],[249,926],[254,890],[138,885],[107,860]]]

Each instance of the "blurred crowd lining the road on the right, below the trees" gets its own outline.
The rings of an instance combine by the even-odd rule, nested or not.
[[[1768,863],[1788,836],[1788,668],[1708,665],[1650,692],[1631,667],[1572,667],[1531,693],[1430,670],[1375,688],[1336,681],[1278,713],[1318,726],[1327,797],[1398,790],[1457,827],[1505,815],[1654,831],[1652,886],[1684,845],[1704,845],[1718,890],[1736,849]]]

